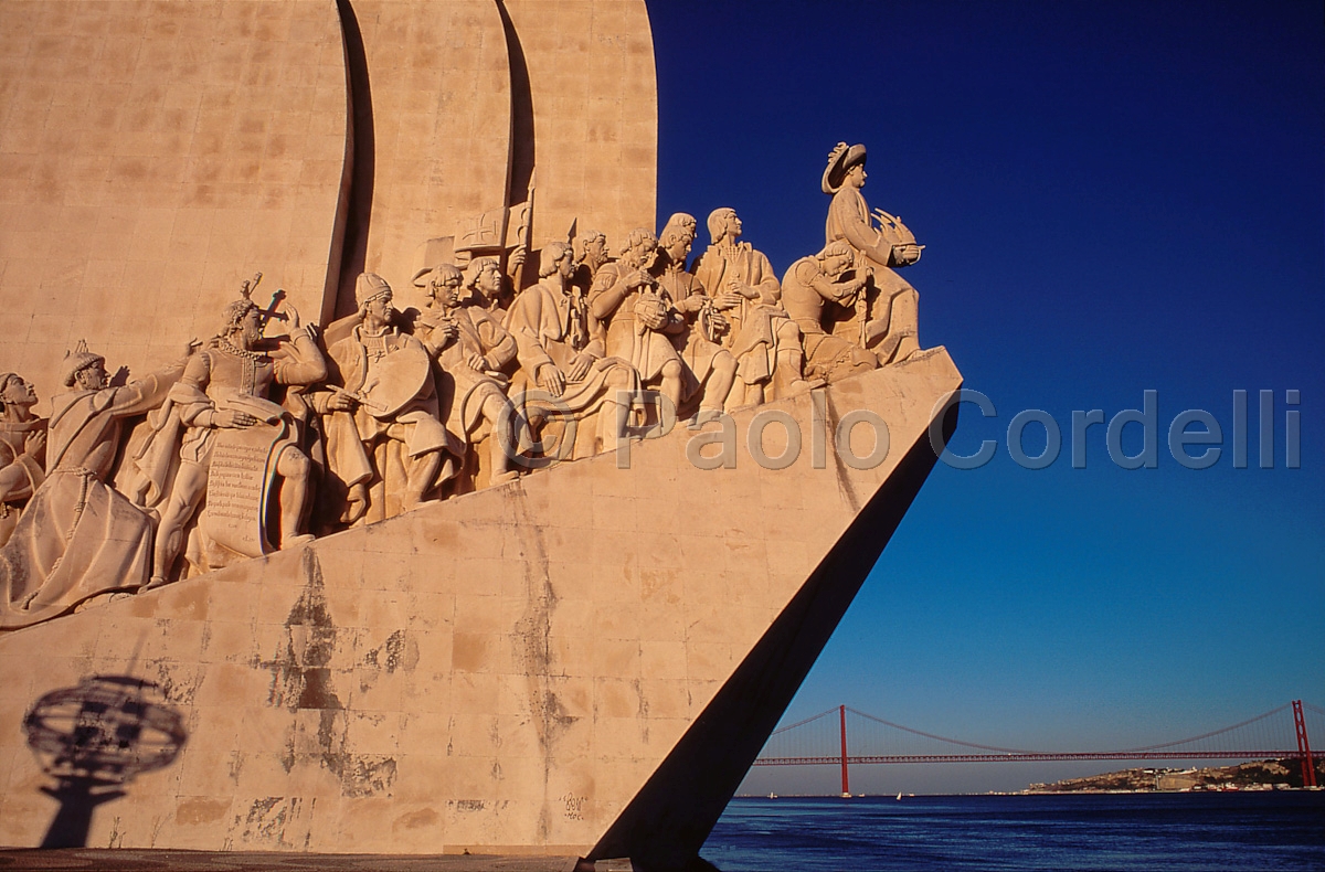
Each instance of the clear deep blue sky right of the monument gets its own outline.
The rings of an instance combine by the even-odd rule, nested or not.
[[[784,270],[823,245],[828,150],[865,143],[871,205],[928,245],[905,273],[921,341],[999,412],[963,408],[954,448],[995,439],[995,460],[935,468],[787,722],[845,702],[979,742],[1102,750],[1325,705],[1320,5],[655,0],[651,17],[660,224],[731,205]],[[1232,466],[1236,388],[1248,469]],[[1263,388],[1275,469],[1256,468]],[[1096,427],[1072,469],[1071,411],[1112,417],[1145,390],[1158,468],[1116,466]],[[1024,408],[1064,429],[1048,469],[1008,457]],[[1210,469],[1169,455],[1186,408],[1224,429]],[[880,769],[857,786],[1018,789],[1101,765]]]

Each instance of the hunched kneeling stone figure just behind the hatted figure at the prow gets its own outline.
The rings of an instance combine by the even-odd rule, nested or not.
[[[807,378],[836,382],[878,367],[872,351],[824,330],[833,310],[851,310],[863,298],[869,273],[847,278],[852,260],[851,246],[839,240],[798,260],[782,280],[782,305],[800,327]]]

